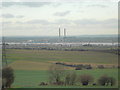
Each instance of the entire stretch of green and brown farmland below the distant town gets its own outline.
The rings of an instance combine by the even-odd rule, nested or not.
[[[7,50],[9,66],[15,70],[15,82],[12,87],[40,88],[40,82],[48,81],[48,68],[53,62],[65,62],[91,65],[117,65],[118,56],[112,53],[95,51],[48,51],[48,50]],[[71,68],[67,68],[73,71]],[[69,71],[69,70],[68,70]],[[75,71],[75,70],[74,70]],[[76,71],[78,74],[91,74],[97,80],[101,75],[109,75],[118,80],[117,69],[92,69]],[[44,86],[56,87],[56,86]],[[58,86],[59,87],[59,86]],[[64,86],[62,86],[64,87]],[[83,87],[83,86],[69,86]],[[90,85],[88,87],[91,87]],[[100,86],[96,86],[100,87]],[[115,86],[117,87],[117,85]]]

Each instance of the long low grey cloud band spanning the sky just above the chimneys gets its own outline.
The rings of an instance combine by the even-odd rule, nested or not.
[[[11,25],[10,22],[4,22],[6,25]],[[14,22],[15,25],[21,26],[41,26],[41,27],[56,27],[58,25],[67,26],[67,27],[82,27],[82,28],[109,28],[116,29],[118,27],[118,20],[115,18],[107,20],[96,20],[96,19],[78,19],[78,20],[68,20],[68,19],[58,19],[55,21],[48,21],[42,19],[33,19],[29,21],[17,21]],[[33,26],[34,27],[34,26]],[[48,28],[49,29],[49,28]]]

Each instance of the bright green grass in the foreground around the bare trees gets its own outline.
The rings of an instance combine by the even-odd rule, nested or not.
[[[70,70],[71,71],[71,70]],[[75,71],[75,70],[74,70]],[[118,72],[117,69],[93,69],[93,70],[80,70],[75,71],[78,75],[81,74],[90,74],[93,77],[95,77],[95,82],[97,79],[106,74],[108,76],[114,77],[116,80],[118,78]],[[16,70],[15,71],[15,82],[12,87],[14,88],[23,88],[23,87],[31,87],[31,88],[49,88],[49,87],[60,87],[60,86],[39,86],[40,82],[48,82],[49,73],[46,70]],[[78,86],[62,86],[62,88],[77,88],[77,87],[83,87],[82,85]],[[91,85],[87,87],[93,87]],[[101,86],[96,86],[101,87]],[[115,86],[117,87],[117,85]]]

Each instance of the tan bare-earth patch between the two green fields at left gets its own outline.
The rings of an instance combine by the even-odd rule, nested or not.
[[[33,61],[16,61],[11,63],[14,70],[49,70],[53,63],[48,62],[33,62]],[[73,69],[70,67],[65,67],[65,69]]]

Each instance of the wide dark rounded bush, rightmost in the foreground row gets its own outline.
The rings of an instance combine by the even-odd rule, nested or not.
[[[98,83],[101,85],[101,86],[108,86],[109,84],[111,86],[115,85],[116,83],[116,80],[113,78],[113,77],[108,77],[106,75],[104,76],[101,76],[99,79],[98,79]]]

